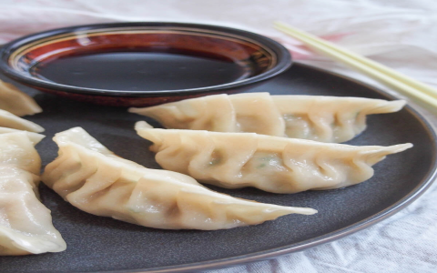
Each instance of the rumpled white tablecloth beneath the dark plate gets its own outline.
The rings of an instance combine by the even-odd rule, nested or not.
[[[437,86],[435,0],[0,0],[0,44],[66,25],[182,21],[229,25],[273,37],[295,60],[396,92],[321,56],[272,27],[280,20]],[[402,96],[400,96],[402,97]],[[433,125],[436,116],[413,105]],[[437,113],[437,112],[436,112]],[[437,185],[393,217],[347,238],[230,272],[437,272]]]

